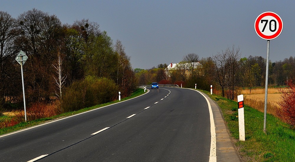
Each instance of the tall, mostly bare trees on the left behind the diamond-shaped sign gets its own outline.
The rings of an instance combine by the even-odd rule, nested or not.
[[[20,66],[14,60],[22,50],[26,102],[50,102],[63,88],[86,76],[114,81],[128,96],[136,88],[135,73],[121,41],[114,44],[99,24],[88,19],[62,24],[57,16],[37,9],[17,18],[0,11],[0,108],[22,102]],[[66,92],[65,92],[66,93]]]

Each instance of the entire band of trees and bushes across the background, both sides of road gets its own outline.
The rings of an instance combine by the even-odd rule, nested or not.
[[[234,99],[241,87],[265,85],[266,59],[241,58],[240,47],[228,46],[210,57],[183,56],[176,68],[170,62],[150,69],[132,68],[120,40],[113,42],[97,22],[88,19],[63,24],[56,15],[32,9],[13,18],[0,11],[0,115],[23,109],[22,77],[15,57],[22,50],[28,107],[51,105],[55,113],[76,111],[129,96],[138,85],[182,84]],[[195,63],[201,66],[195,67]],[[152,65],[151,65],[152,66]],[[269,62],[269,86],[294,78],[295,58]],[[37,105],[37,106],[36,106]]]

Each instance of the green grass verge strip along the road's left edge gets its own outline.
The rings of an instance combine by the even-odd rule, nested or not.
[[[32,127],[32,126],[35,126],[35,125],[38,125],[38,124],[41,124],[41,123],[44,123],[44,122],[48,122],[50,120],[55,120],[55,119],[58,119],[58,118],[61,118],[61,117],[68,117],[68,116],[71,116],[71,115],[74,115],[74,114],[79,114],[81,112],[86,112],[86,111],[89,111],[89,110],[92,110],[92,109],[96,109],[96,108],[99,108],[99,107],[104,107],[104,106],[107,106],[107,105],[110,105],[110,104],[122,102],[122,101],[125,101],[125,100],[128,100],[128,99],[131,99],[131,98],[140,96],[140,95],[142,95],[144,93],[145,93],[144,92],[144,89],[136,89],[131,94],[131,96],[122,98],[121,101],[116,100],[116,101],[108,102],[108,103],[105,103],[105,104],[100,104],[100,105],[96,105],[96,106],[92,106],[92,107],[86,107],[86,108],[81,109],[81,110],[78,110],[78,111],[65,112],[63,114],[59,114],[59,115],[56,115],[56,116],[53,116],[53,117],[42,118],[42,119],[38,119],[38,120],[34,120],[34,121],[22,122],[22,123],[19,123],[17,125],[14,125],[12,127],[1,128],[0,129],[0,135],[6,134],[6,133],[10,133],[10,132],[14,132],[14,131],[17,131],[17,130],[21,130],[21,129],[24,129],[24,128],[27,128],[27,127]],[[0,122],[3,121],[3,120],[5,120],[6,118],[9,118],[9,117],[7,117],[5,115],[4,116],[1,116],[0,117]]]

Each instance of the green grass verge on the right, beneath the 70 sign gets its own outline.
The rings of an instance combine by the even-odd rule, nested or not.
[[[251,107],[244,107],[245,141],[239,141],[239,124],[237,102],[210,95],[220,107],[230,134],[237,139],[235,145],[239,147],[242,161],[295,161],[295,131],[273,115],[267,114],[266,134],[263,132],[264,114]]]

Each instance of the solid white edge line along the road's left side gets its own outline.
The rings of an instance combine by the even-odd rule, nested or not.
[[[147,90],[148,90],[148,89],[147,89]],[[147,93],[149,93],[149,92],[150,92],[150,90],[148,90],[145,94],[147,94]],[[142,95],[145,95],[145,94],[142,94]],[[142,96],[142,95],[140,95],[140,96]],[[140,97],[140,96],[137,96],[137,97]],[[134,98],[132,98],[132,99],[135,99],[135,98],[137,98],[137,97],[134,97]],[[125,100],[125,101],[128,101],[128,100],[131,100],[131,99],[127,99],[127,100]],[[114,103],[114,104],[119,104],[119,103],[122,103],[122,102],[125,102],[125,101],[117,102],[117,103]],[[51,122],[46,122],[46,123],[43,123],[43,124],[40,124],[40,125],[35,125],[35,126],[32,126],[32,127],[24,128],[24,129],[22,129],[22,130],[17,130],[17,131],[15,131],[15,132],[11,132],[11,133],[7,133],[7,134],[4,134],[4,135],[0,135],[0,138],[1,138],[1,137],[5,137],[5,136],[7,136],[7,135],[12,135],[12,134],[14,134],[14,133],[18,133],[18,132],[22,132],[22,131],[25,131],[25,130],[29,130],[29,129],[32,129],[32,128],[35,128],[35,127],[40,127],[40,126],[42,126],[42,125],[46,125],[46,124],[50,124],[50,123],[57,122],[57,121],[60,121],[60,120],[64,120],[64,119],[67,119],[67,118],[70,118],[70,117],[74,117],[74,116],[76,116],[76,115],[80,115],[80,114],[84,114],[84,113],[87,113],[87,112],[91,112],[91,111],[94,111],[94,110],[97,110],[97,109],[101,109],[101,108],[104,108],[104,107],[108,107],[108,106],[111,106],[111,105],[114,105],[114,104],[110,104],[110,105],[103,106],[103,107],[98,107],[98,108],[96,108],[96,109],[92,109],[92,110],[89,110],[89,111],[86,111],[86,112],[81,112],[81,113],[79,113],[79,114],[75,114],[75,115],[72,115],[72,116],[64,117],[64,118],[61,118],[61,119],[58,119],[58,120],[53,120],[53,121],[51,121]]]

